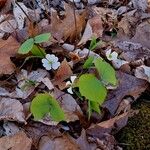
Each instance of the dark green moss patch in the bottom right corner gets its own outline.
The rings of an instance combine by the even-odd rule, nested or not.
[[[117,134],[124,150],[150,150],[150,103],[140,102],[133,106],[139,113]]]

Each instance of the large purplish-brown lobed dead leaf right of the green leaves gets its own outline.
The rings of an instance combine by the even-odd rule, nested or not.
[[[123,72],[117,72],[117,79],[119,81],[118,88],[109,92],[107,100],[102,106],[108,109],[112,116],[125,96],[131,96],[136,100],[148,86],[146,81]]]

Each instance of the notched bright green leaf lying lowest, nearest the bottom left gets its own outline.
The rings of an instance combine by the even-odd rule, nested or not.
[[[47,114],[50,114],[54,121],[65,120],[64,112],[60,108],[57,100],[55,100],[48,93],[38,94],[32,100],[31,112],[35,120],[42,119]]]

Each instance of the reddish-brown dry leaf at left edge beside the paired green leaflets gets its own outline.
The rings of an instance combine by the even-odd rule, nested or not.
[[[11,62],[10,57],[16,55],[19,46],[19,43],[11,36],[7,40],[0,39],[0,75],[14,72],[15,65]]]

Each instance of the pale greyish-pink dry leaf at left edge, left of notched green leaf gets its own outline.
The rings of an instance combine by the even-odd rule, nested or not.
[[[11,98],[0,100],[0,120],[11,120],[26,123],[22,104]]]

